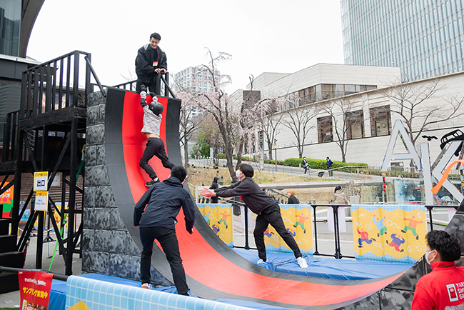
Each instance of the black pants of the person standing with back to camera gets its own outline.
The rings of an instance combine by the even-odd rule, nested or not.
[[[158,240],[163,248],[166,259],[171,265],[171,272],[176,284],[177,294],[188,295],[186,273],[183,270],[181,253],[176,236],[176,230],[164,227],[145,227],[140,229],[140,240],[142,241],[142,255],[140,259],[141,282],[150,283],[151,253],[153,241]]]

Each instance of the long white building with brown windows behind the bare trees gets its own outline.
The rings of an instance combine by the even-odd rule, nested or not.
[[[435,87],[431,91],[430,98],[416,107],[418,114],[414,115],[420,117],[413,120],[413,133],[417,133],[420,126],[422,126],[424,119],[422,115],[424,113],[440,107],[440,109],[433,111],[433,116],[430,116],[430,119],[443,119],[451,113],[452,106],[450,104],[456,105],[459,101],[463,101],[464,98],[464,72],[448,74],[440,77],[439,80],[424,79],[393,86],[393,81],[397,81],[398,84],[399,75],[400,70],[398,68],[320,64],[298,71],[296,74],[287,74],[259,90],[261,90],[261,99],[266,98],[266,96],[285,96],[286,94],[297,96],[300,106],[295,108],[294,111],[313,109],[311,121],[307,126],[303,156],[311,159],[326,159],[329,156],[332,160],[341,161],[341,147],[337,144],[338,138],[335,128],[338,126],[338,131],[345,131],[343,139],[345,143],[348,143],[346,161],[362,162],[370,166],[380,167],[390,140],[392,126],[396,119],[401,119],[401,116],[395,113],[400,109],[394,99],[395,93],[400,92],[401,87],[409,89],[410,101],[420,101],[420,96],[424,96],[423,94],[430,87]],[[263,74],[263,76],[266,76],[266,74]],[[258,83],[259,78],[260,76],[256,79]],[[258,83],[253,84],[253,89],[258,89]],[[316,87],[318,85],[321,87]],[[370,86],[370,89],[366,89],[368,86]],[[314,97],[312,96],[313,93],[309,91],[311,87],[315,90]],[[359,92],[350,93],[353,87],[355,91],[359,89]],[[308,93],[306,93],[306,89],[308,89]],[[318,89],[321,89],[320,95],[318,95]],[[328,94],[329,91],[332,91],[332,93]],[[323,99],[326,95],[330,99],[318,100]],[[331,101],[343,102],[346,108],[343,111],[334,111],[333,113],[327,111],[327,109],[322,109],[323,106],[330,105]],[[463,113],[464,103],[461,104],[455,114]],[[286,114],[286,111],[283,114]],[[343,121],[346,117],[352,119],[348,125],[349,128],[340,128],[347,126],[348,123]],[[284,115],[282,121],[286,118],[288,116]],[[260,128],[259,126],[256,127],[256,136],[259,137]],[[426,142],[426,139],[422,138],[423,135],[436,136],[438,139],[428,141],[431,159],[435,159],[441,151],[440,138],[455,129],[464,131],[463,116],[430,124],[417,139],[416,150],[420,152],[419,144]],[[296,136],[291,129],[279,125],[276,140],[278,160],[298,157]],[[262,140],[260,142],[260,139],[257,139],[257,143],[256,149],[260,150],[260,147],[263,147],[264,154],[267,154],[267,144],[263,143]],[[401,147],[398,141],[396,141],[396,144]],[[247,155],[258,156],[258,152]]]

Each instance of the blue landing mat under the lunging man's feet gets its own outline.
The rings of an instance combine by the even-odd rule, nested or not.
[[[244,259],[256,264],[258,251],[233,249]],[[390,276],[409,269],[413,264],[390,264],[374,261],[355,261],[351,259],[321,258],[303,256],[308,262],[308,268],[300,268],[292,254],[267,252],[268,260],[260,264],[273,271],[287,274],[302,274],[304,276],[318,276],[320,278],[340,280],[365,280]]]

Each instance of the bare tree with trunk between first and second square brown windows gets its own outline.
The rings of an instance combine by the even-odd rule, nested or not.
[[[334,141],[340,147],[342,161],[346,162],[348,141],[353,139],[353,126],[360,124],[363,132],[363,100],[355,102],[353,97],[343,96],[329,99],[318,105],[318,110],[331,116]],[[362,136],[360,136],[362,137]]]

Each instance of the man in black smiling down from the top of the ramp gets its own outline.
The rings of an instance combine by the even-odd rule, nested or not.
[[[153,92],[156,91],[156,75],[165,74],[168,71],[166,53],[159,48],[161,36],[157,32],[150,35],[150,43],[145,44],[137,51],[136,91],[141,91],[141,85],[145,85]],[[158,94],[159,95],[159,94]]]

